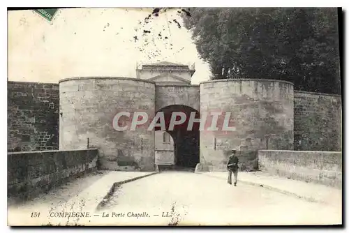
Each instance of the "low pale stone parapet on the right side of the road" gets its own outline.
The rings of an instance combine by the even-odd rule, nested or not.
[[[342,153],[334,151],[258,151],[259,170],[290,179],[341,188]]]

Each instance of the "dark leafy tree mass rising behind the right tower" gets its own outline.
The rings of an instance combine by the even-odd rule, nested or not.
[[[286,80],[340,93],[336,8],[190,8],[182,15],[212,79]]]

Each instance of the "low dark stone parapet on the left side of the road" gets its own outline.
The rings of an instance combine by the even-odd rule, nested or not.
[[[27,200],[96,168],[97,149],[8,153],[8,197]]]

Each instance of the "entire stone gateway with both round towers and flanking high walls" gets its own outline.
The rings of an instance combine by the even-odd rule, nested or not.
[[[138,66],[136,78],[72,77],[60,80],[59,87],[54,87],[59,91],[59,105],[51,104],[54,100],[50,96],[58,96],[49,92],[53,88],[39,89],[37,93],[45,99],[38,101],[29,94],[36,93],[33,90],[26,91],[18,82],[9,82],[8,150],[34,151],[40,145],[58,149],[54,142],[43,144],[20,134],[38,128],[35,110],[42,112],[47,103],[47,109],[59,122],[53,118],[48,126],[40,121],[40,132],[50,132],[50,138],[57,141],[59,138],[59,150],[98,149],[98,167],[102,170],[154,171],[161,165],[175,165],[223,171],[226,151],[231,150],[341,150],[341,96],[294,91],[291,82],[281,80],[211,80],[192,85],[193,73],[194,66],[160,62]],[[14,87],[15,92],[11,92]],[[23,96],[33,100],[27,98],[28,105],[20,106]],[[314,105],[308,106],[308,99]],[[43,105],[31,109],[30,116],[35,119],[26,115],[30,101]],[[166,130],[158,126],[154,130],[115,130],[113,119],[118,112],[144,112],[153,117],[160,113]],[[229,124],[235,130],[200,130],[198,122],[188,120],[168,130],[173,112],[185,114],[186,119],[192,114],[200,119],[207,112],[230,112]],[[321,135],[312,132],[303,142],[300,133],[316,130],[309,116],[318,119],[318,125],[322,120],[327,124],[322,124]],[[328,121],[328,117],[332,119]],[[120,119],[128,123],[132,116]],[[187,130],[188,123],[193,124],[193,130]],[[59,130],[45,130],[54,128],[52,124]]]

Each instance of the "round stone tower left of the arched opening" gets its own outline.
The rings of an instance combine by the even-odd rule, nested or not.
[[[104,170],[154,171],[154,130],[149,123],[131,130],[134,112],[154,116],[155,84],[126,77],[77,77],[59,82],[59,149],[96,148]],[[113,120],[119,112],[118,131]]]

